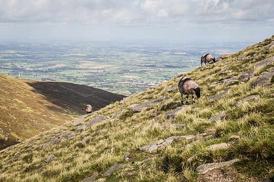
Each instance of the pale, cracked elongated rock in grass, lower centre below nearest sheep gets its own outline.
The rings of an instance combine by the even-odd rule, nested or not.
[[[175,140],[179,139],[180,136],[170,136],[165,140],[161,139],[157,143],[149,144],[143,147],[140,147],[140,151],[146,151],[149,153],[157,152],[158,150],[164,149],[166,146],[171,145]]]

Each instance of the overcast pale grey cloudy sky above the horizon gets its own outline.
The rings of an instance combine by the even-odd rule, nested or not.
[[[274,0],[0,0],[0,39],[263,40]]]

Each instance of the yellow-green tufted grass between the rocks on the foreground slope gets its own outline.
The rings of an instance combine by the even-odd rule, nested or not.
[[[119,111],[122,115],[116,121],[105,120],[93,125],[91,128],[77,132],[77,136],[71,140],[66,140],[61,144],[41,150],[41,145],[48,142],[60,130],[73,131],[74,126],[65,124],[48,132],[43,132],[33,139],[36,142],[29,144],[28,141],[19,144],[14,149],[4,151],[0,154],[0,182],[67,182],[79,181],[95,171],[99,175],[103,174],[111,165],[125,164],[123,169],[116,171],[107,178],[107,181],[196,181],[199,177],[195,168],[204,163],[222,162],[231,159],[241,159],[233,169],[236,170],[238,181],[271,178],[274,176],[274,92],[273,85],[270,88],[251,87],[255,80],[238,83],[232,86],[224,86],[221,83],[209,88],[213,82],[228,76],[239,76],[241,72],[254,68],[255,64],[264,58],[274,56],[274,49],[264,50],[263,46],[269,44],[272,38],[248,47],[245,50],[229,55],[222,62],[212,64],[209,68],[203,66],[194,71],[181,75],[168,82],[164,82],[154,89],[130,96],[130,99],[123,104],[115,102],[87,117],[88,123],[97,114],[112,117]],[[257,53],[257,57],[253,55]],[[237,60],[240,55],[248,54],[242,60]],[[221,68],[226,66],[225,68]],[[260,68],[256,74],[265,68]],[[196,104],[190,105],[176,116],[175,123],[186,124],[183,129],[167,127],[164,130],[153,126],[154,123],[164,124],[170,119],[160,119],[147,122],[153,118],[154,113],[164,114],[167,110],[159,111],[161,104],[143,110],[140,113],[130,111],[133,103],[142,103],[147,100],[149,94],[153,98],[169,95],[170,99],[180,99],[177,90],[166,93],[165,88],[177,85],[182,76],[189,76],[197,81],[201,86],[201,98]],[[225,91],[227,88],[231,92],[225,97],[208,102],[207,97]],[[234,106],[234,102],[250,95],[260,95],[258,101],[247,101],[240,106]],[[220,111],[227,110],[227,115],[216,122],[208,122],[212,116],[216,116]],[[98,130],[108,129],[109,131],[97,133]],[[188,149],[182,149],[187,141],[178,141],[171,146],[158,151],[156,154],[140,152],[137,148],[160,139],[165,139],[172,135],[189,135],[202,132],[213,131],[216,138],[197,143]],[[79,145],[79,142],[90,135],[91,141],[86,146]],[[228,137],[232,135],[240,136],[239,141],[228,149],[218,149],[209,151],[206,147],[228,142]],[[26,148],[33,145],[31,151]],[[113,153],[106,152],[105,149],[114,147]],[[14,154],[20,151],[21,156]],[[127,151],[131,151],[134,156],[134,164],[123,161],[123,156]],[[44,163],[49,154],[54,154],[56,158],[50,163]],[[168,155],[167,162],[162,157]],[[192,157],[191,162],[187,159]],[[18,158],[18,159],[17,159]],[[34,165],[41,163],[39,167]],[[226,170],[226,168],[225,168]],[[227,169],[229,170],[229,169]],[[121,171],[130,173],[122,174]],[[100,177],[97,177],[100,178]]]

